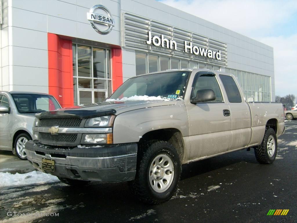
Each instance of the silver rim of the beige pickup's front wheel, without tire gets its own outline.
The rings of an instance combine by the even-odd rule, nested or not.
[[[167,154],[156,156],[149,168],[151,188],[158,193],[162,193],[171,186],[173,178],[174,165],[170,156]]]

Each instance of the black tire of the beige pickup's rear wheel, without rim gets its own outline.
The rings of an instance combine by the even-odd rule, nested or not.
[[[274,146],[275,146],[274,152],[271,154],[271,156],[269,156],[268,148],[267,148],[268,147],[267,143],[270,136],[274,138]],[[277,155],[277,136],[275,134],[275,131],[272,128],[268,128],[265,131],[264,138],[261,145],[255,148],[255,156],[257,161],[260,164],[271,164],[275,160],[276,155]]]

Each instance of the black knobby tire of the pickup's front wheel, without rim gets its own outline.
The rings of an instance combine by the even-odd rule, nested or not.
[[[151,165],[153,165],[154,159],[158,156],[165,156],[167,159],[170,158],[174,168],[172,181],[170,182],[168,189],[166,189],[166,186],[164,187],[164,189],[166,189],[164,192],[156,192],[155,189],[152,188],[149,179]],[[164,162],[164,170],[166,169],[166,165],[168,165],[165,165],[165,163],[166,161]],[[165,172],[165,174],[167,173]],[[176,191],[180,175],[181,162],[173,145],[165,141],[150,141],[138,152],[135,180],[129,182],[129,187],[132,193],[142,202],[148,204],[160,204],[168,201],[173,196]],[[155,182],[158,184],[160,181],[156,180]]]

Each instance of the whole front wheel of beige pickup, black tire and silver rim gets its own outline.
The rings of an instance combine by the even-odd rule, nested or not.
[[[181,162],[173,145],[164,141],[149,143],[137,165],[132,192],[143,202],[160,204],[176,191]]]

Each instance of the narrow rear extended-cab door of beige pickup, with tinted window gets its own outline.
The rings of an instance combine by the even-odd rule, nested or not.
[[[230,149],[247,147],[252,137],[249,106],[233,76],[220,74],[219,77],[225,88],[232,119],[232,146]]]

